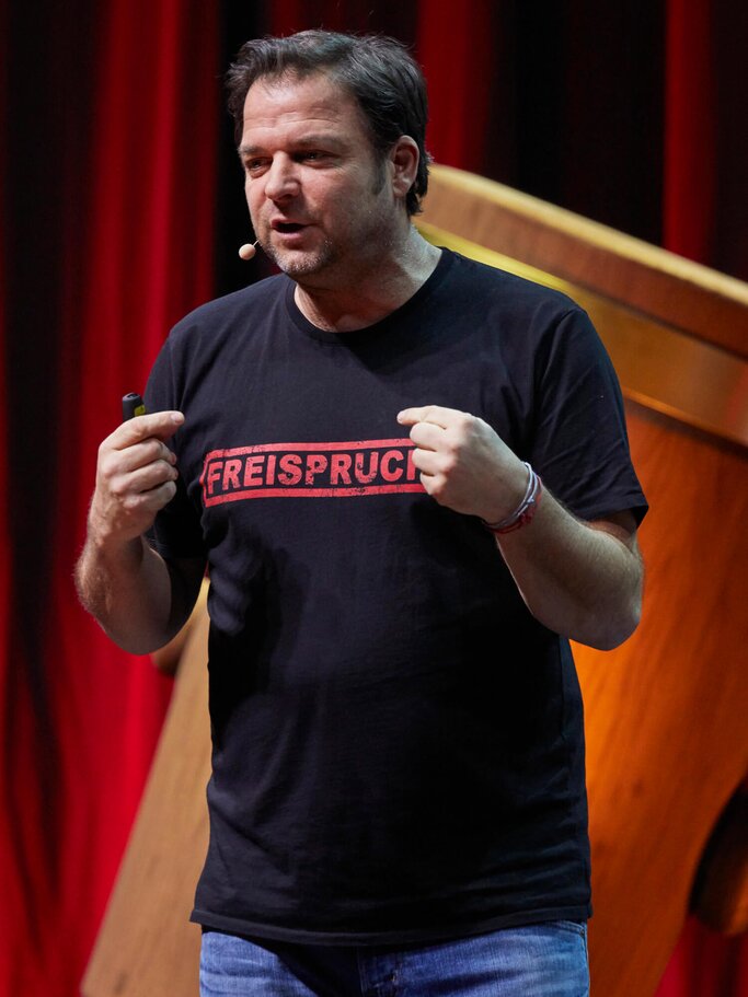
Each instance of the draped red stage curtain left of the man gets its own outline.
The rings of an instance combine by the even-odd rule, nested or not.
[[[14,594],[0,663],[0,994],[72,997],[170,682],[105,639],[71,571],[122,395],[142,390],[169,326],[212,293],[218,21],[200,0],[20,8],[5,18],[1,98],[15,140],[2,160],[13,535],[0,565]]]

